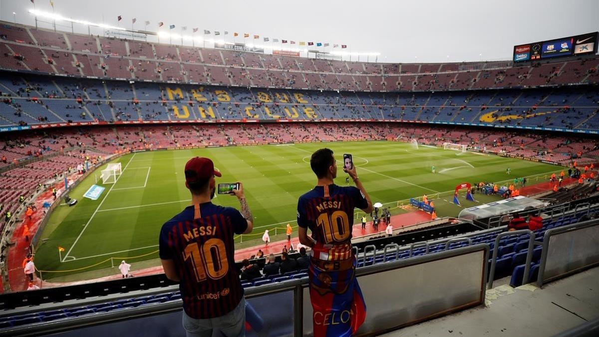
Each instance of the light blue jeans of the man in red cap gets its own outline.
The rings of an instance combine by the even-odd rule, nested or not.
[[[246,335],[246,299],[241,297],[237,308],[226,315],[197,320],[187,316],[183,311],[183,328],[187,337],[210,337],[213,330],[227,337]]]

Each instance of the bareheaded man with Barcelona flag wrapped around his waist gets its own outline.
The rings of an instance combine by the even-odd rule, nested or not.
[[[299,197],[298,234],[302,245],[312,248],[308,275],[314,336],[351,336],[366,318],[351,242],[353,209],[370,213],[373,207],[355,166],[343,170],[356,187],[334,184],[337,163],[330,149],[314,152],[310,167],[318,182]]]

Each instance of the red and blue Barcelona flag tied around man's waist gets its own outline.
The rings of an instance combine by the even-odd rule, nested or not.
[[[317,243],[310,255],[314,336],[351,336],[366,318],[352,245]]]

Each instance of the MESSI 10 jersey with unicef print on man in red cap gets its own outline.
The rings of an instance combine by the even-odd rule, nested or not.
[[[172,259],[177,267],[189,317],[220,317],[239,304],[243,288],[234,265],[233,237],[246,228],[237,209],[211,202],[188,206],[162,225],[160,258]]]

